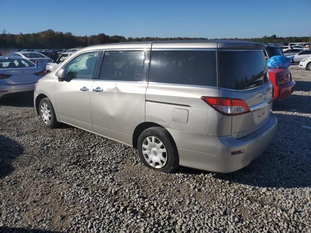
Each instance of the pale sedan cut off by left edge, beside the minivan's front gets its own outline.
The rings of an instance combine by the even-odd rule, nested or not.
[[[0,56],[0,98],[10,93],[33,91],[35,83],[45,74],[43,68],[26,59]]]

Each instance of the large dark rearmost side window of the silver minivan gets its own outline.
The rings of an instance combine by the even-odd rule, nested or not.
[[[216,51],[154,50],[150,82],[217,86]]]

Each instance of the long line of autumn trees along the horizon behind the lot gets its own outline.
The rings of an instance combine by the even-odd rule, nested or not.
[[[99,33],[97,35],[76,36],[72,33],[55,32],[47,30],[38,33],[19,33],[11,34],[5,30],[0,33],[0,48],[16,49],[62,49],[74,47],[86,47],[90,45],[132,42],[132,41],[151,41],[151,40],[185,40],[185,39],[207,39],[197,37],[128,37],[121,35],[106,35]],[[211,38],[210,38],[211,39]],[[214,38],[218,39],[218,38]],[[220,38],[226,39],[226,38]],[[276,35],[264,36],[262,38],[227,38],[233,40],[247,40],[260,43],[291,43],[291,42],[309,42],[309,37],[277,37]]]

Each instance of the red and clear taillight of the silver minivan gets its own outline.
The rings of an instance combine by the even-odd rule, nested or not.
[[[207,96],[202,96],[201,99],[217,112],[226,116],[241,115],[251,111],[246,102],[240,99]]]

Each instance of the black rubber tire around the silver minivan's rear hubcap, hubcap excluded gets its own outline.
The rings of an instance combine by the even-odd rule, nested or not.
[[[150,166],[147,161],[145,160],[143,154],[142,154],[142,143],[145,140],[145,138],[149,136],[155,136],[159,140],[161,140],[166,148],[167,151],[167,162],[165,166],[161,168],[155,168],[153,166]],[[162,172],[174,172],[175,170],[178,169],[179,166],[179,156],[178,156],[178,151],[175,146],[175,143],[173,142],[173,138],[171,135],[161,127],[152,127],[149,129],[146,129],[143,131],[139,138],[138,138],[138,155],[141,160],[141,162],[145,165],[148,166],[154,170],[157,171],[162,171]]]

